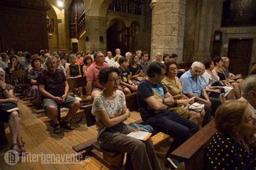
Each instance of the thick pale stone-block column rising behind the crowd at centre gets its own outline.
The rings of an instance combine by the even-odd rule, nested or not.
[[[151,59],[156,52],[176,53],[182,62],[186,0],[153,0]]]

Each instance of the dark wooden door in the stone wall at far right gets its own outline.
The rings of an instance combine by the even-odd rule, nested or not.
[[[233,74],[247,75],[252,55],[252,39],[230,39],[228,58],[230,66],[228,70]]]

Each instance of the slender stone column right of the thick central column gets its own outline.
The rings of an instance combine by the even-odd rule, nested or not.
[[[213,0],[198,1],[193,61],[211,58],[213,10]]]

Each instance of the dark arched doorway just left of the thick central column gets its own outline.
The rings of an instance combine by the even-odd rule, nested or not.
[[[112,23],[107,29],[107,51],[115,55],[115,49],[120,48],[122,55],[125,56],[129,51],[129,27],[118,19],[113,20]]]

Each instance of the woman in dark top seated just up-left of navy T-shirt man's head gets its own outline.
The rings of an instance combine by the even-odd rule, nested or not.
[[[133,54],[129,60],[129,68],[131,72],[131,80],[135,85],[138,85],[140,81],[145,79],[145,74],[142,67],[138,64],[139,57],[136,54]]]

